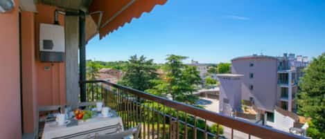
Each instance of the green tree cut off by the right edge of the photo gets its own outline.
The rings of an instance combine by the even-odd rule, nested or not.
[[[325,138],[325,53],[304,70],[297,93],[298,113],[312,118],[307,135]]]

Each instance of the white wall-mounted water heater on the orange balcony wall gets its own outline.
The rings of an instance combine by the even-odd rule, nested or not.
[[[40,24],[39,59],[41,62],[64,62],[64,27]]]

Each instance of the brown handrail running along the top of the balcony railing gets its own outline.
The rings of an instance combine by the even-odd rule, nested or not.
[[[139,91],[137,89],[132,89],[127,86],[122,86],[119,84],[114,84],[112,82],[107,82],[105,80],[89,80],[84,81],[82,83],[103,83],[109,86],[113,86],[116,89],[121,89],[128,93],[132,93],[133,95],[137,95],[141,98],[145,98],[147,100],[152,100],[154,102],[158,102],[160,104],[164,104],[165,106],[169,106],[177,111],[184,111],[186,113],[190,113],[200,118],[204,118],[211,122],[216,122],[218,124],[222,124],[226,127],[230,127],[232,129],[236,129],[238,131],[242,131],[244,133],[250,134],[252,136],[256,136],[259,138],[286,138],[286,139],[297,139],[297,138],[304,138],[303,136],[297,136],[292,133],[287,133],[285,131],[280,131],[277,129],[272,129],[270,127],[265,127],[259,124],[254,124],[252,122],[248,122],[245,120],[241,120],[238,118],[233,118],[228,115],[222,115],[220,113],[216,113],[213,111],[207,111],[205,109],[200,109],[195,106],[191,106],[188,104],[184,104],[181,102],[176,102],[173,100],[168,100],[166,98],[162,98],[157,95],[152,95],[150,93],[146,93],[144,91]]]

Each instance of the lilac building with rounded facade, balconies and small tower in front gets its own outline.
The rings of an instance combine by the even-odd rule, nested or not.
[[[295,54],[281,57],[250,55],[231,60],[231,73],[220,74],[220,113],[241,111],[241,102],[252,104],[256,116],[272,126],[274,109],[296,111],[295,94],[308,58]],[[238,99],[240,97],[240,99]],[[228,104],[227,104],[228,103]]]

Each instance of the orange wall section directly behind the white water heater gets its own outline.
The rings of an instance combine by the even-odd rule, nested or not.
[[[39,24],[53,24],[55,7],[37,4],[38,14],[35,15],[35,65],[37,72],[37,104],[39,106],[66,104],[67,93],[65,84],[65,64],[39,62]],[[64,25],[64,17],[59,17],[60,25]],[[51,67],[45,71],[44,66]]]

